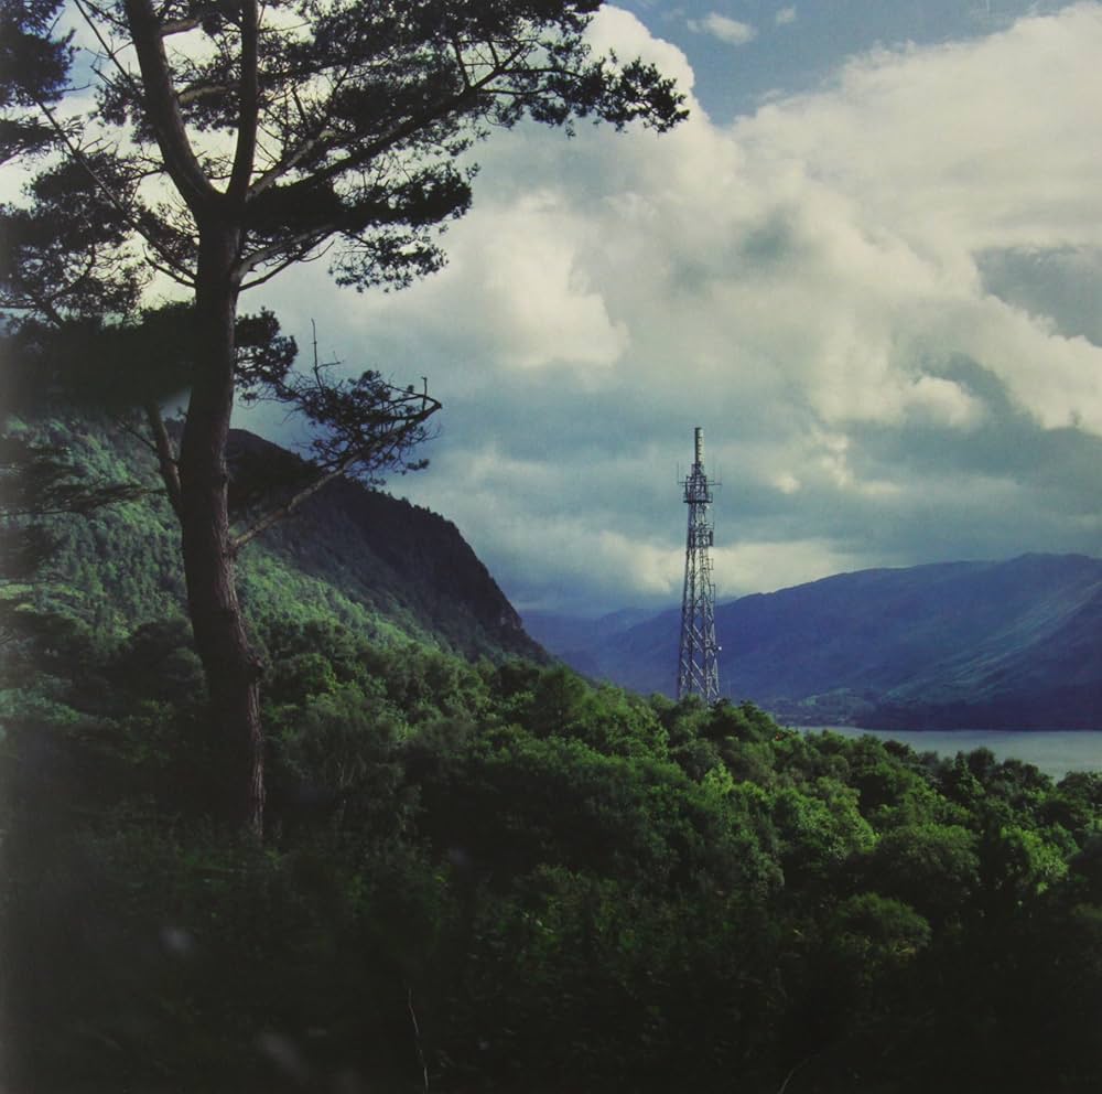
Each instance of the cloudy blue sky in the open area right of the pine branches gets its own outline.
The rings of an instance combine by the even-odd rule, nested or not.
[[[521,612],[680,602],[698,426],[721,601],[1102,554],[1102,3],[623,0],[590,33],[689,121],[496,133],[443,271],[247,301],[428,376],[431,464],[391,492]]]

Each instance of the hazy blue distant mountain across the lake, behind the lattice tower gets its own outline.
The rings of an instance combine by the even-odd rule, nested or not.
[[[591,625],[576,652],[541,633],[580,671],[672,694],[679,622]],[[1102,559],[842,573],[723,604],[716,631],[723,693],[791,722],[1102,728]]]

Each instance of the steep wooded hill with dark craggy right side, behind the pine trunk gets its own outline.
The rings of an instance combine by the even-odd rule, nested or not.
[[[179,523],[153,454],[106,421],[51,418],[26,436],[64,451],[85,481],[130,484],[139,494],[85,519],[44,522],[52,548],[34,610],[108,641],[143,624],[183,626]],[[230,468],[242,518],[306,474],[296,455],[241,430],[231,433]],[[320,613],[379,641],[404,637],[467,657],[545,657],[455,525],[349,480],[266,532],[241,566],[253,624]]]

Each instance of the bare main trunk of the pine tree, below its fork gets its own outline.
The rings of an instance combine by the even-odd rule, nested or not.
[[[228,818],[259,836],[264,804],[261,666],[237,599],[226,469],[239,238],[231,227],[201,230],[195,293],[201,351],[180,447],[180,524],[187,607],[216,730],[220,770],[214,777]]]

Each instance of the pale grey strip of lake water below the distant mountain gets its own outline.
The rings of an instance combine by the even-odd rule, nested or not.
[[[938,752],[955,755],[973,749],[987,748],[1000,760],[1024,760],[1054,779],[1070,771],[1102,771],[1102,730],[889,730],[858,729],[855,726],[801,726],[801,732],[829,730],[843,737],[878,737],[882,741],[900,741],[916,752]]]

